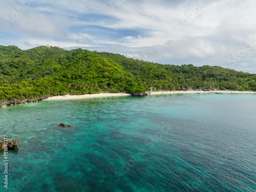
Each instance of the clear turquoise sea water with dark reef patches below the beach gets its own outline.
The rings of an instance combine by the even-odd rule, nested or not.
[[[1,137],[19,149],[0,191],[256,191],[255,106],[255,94],[179,94],[3,108]]]

